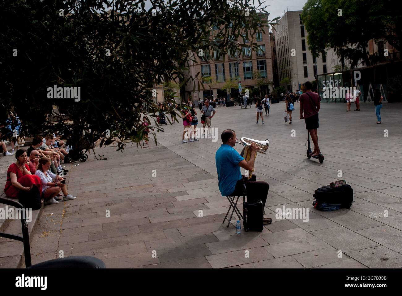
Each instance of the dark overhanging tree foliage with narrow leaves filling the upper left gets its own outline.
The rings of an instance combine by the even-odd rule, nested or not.
[[[244,31],[254,35],[269,25],[267,6],[254,8],[251,0],[149,0],[148,10],[145,2],[0,4],[0,106],[2,113],[14,106],[23,122],[22,135],[55,131],[68,144],[101,139],[100,145],[117,145],[119,150],[127,142],[139,143],[142,111],[150,110],[152,130],[163,131],[152,120],[158,110],[154,85],[179,81],[182,87],[195,79],[183,74],[192,52],[240,50],[230,36],[237,39]],[[53,85],[80,87],[80,100],[48,98]],[[49,115],[57,120],[49,122]]]

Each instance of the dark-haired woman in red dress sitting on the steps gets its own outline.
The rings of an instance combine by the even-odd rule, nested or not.
[[[7,170],[7,181],[4,187],[6,197],[17,199],[20,190],[29,191],[33,185],[38,186],[39,192],[42,192],[41,179],[31,175],[29,171],[27,151],[18,149],[15,158],[17,161],[11,164]]]

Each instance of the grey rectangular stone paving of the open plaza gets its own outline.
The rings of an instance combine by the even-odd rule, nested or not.
[[[254,106],[217,108],[217,142],[181,143],[183,126],[174,124],[158,133],[158,147],[97,148],[107,160],[90,155],[71,166],[68,186],[77,199],[43,211],[31,244],[33,263],[63,250],[65,256],[96,256],[109,268],[402,267],[402,105],[384,104],[383,123],[375,124],[369,103],[349,113],[346,105],[322,104],[323,164],[306,158],[307,131],[295,107],[291,125],[281,118],[283,103],[271,107],[264,125],[254,123]],[[222,224],[228,201],[218,190],[214,155],[225,128],[238,138],[270,140],[255,165],[258,180],[270,185],[265,211],[273,223],[263,232],[236,235]],[[314,190],[336,179],[353,187],[351,209],[313,209]],[[309,208],[309,221],[276,219],[282,205]]]

